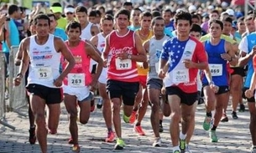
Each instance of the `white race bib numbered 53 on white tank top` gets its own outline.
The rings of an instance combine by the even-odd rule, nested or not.
[[[50,67],[36,68],[35,70],[37,79],[50,80],[53,79],[52,69]]]

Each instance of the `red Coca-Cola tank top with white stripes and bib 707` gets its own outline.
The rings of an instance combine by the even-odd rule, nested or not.
[[[136,62],[131,59],[120,60],[117,54],[127,53],[137,55],[135,48],[134,32],[129,30],[124,36],[118,36],[116,31],[109,36],[110,59],[107,71],[107,79],[114,79],[123,82],[138,82],[138,70]]]

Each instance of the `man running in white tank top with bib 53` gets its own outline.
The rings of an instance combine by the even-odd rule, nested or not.
[[[51,131],[56,131],[60,118],[60,102],[62,101],[62,80],[71,71],[75,64],[71,52],[65,47],[65,43],[49,33],[50,18],[45,14],[39,14],[34,18],[36,34],[19,45],[19,51],[23,53],[22,64],[14,84],[18,86],[29,68],[28,86],[30,105],[32,107],[36,136],[43,153],[47,152],[47,129],[45,127],[44,107],[48,106],[50,120],[55,123]],[[60,68],[60,54],[63,54],[69,62],[62,74]],[[29,64],[30,62],[30,64]]]

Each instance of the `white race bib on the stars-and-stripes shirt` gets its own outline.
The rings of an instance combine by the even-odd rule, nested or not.
[[[173,71],[173,81],[174,83],[186,83],[190,80],[189,70],[188,69],[181,69],[181,70],[174,70]]]

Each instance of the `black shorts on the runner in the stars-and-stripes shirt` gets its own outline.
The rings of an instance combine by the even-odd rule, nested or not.
[[[166,94],[178,95],[180,97],[180,103],[185,105],[193,105],[197,98],[197,91],[195,93],[185,93],[177,86],[166,87]]]

